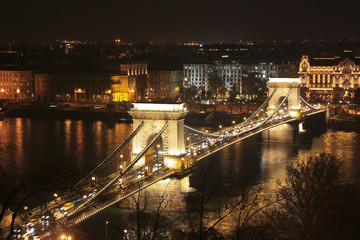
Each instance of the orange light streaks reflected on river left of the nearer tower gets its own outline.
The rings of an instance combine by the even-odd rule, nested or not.
[[[0,166],[22,175],[40,163],[67,157],[88,170],[131,131],[132,125],[101,121],[6,118],[0,125]]]

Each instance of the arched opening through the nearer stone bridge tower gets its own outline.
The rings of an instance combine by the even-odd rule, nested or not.
[[[148,137],[146,145],[148,145],[156,134],[152,134]],[[162,137],[158,137],[153,145],[145,154],[145,167],[149,171],[153,171],[154,167],[162,167],[164,164],[164,143]]]

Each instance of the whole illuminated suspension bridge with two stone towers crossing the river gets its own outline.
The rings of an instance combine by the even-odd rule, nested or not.
[[[281,126],[301,126],[326,110],[307,103],[300,84],[299,79],[270,79],[269,97],[250,117],[214,132],[185,125],[183,103],[134,103],[133,133],[72,189],[20,215],[17,226],[36,232],[46,229],[49,218],[78,224],[161,180],[191,172],[199,160],[232,144]],[[132,152],[124,156],[129,144]]]

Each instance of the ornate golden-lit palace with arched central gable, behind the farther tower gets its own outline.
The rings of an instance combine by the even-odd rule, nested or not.
[[[303,56],[299,75],[308,101],[351,101],[359,87],[360,57],[345,50],[341,57],[313,58]]]

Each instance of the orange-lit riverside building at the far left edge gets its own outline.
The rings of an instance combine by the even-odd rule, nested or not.
[[[0,70],[0,99],[28,101],[33,97],[31,70]]]

